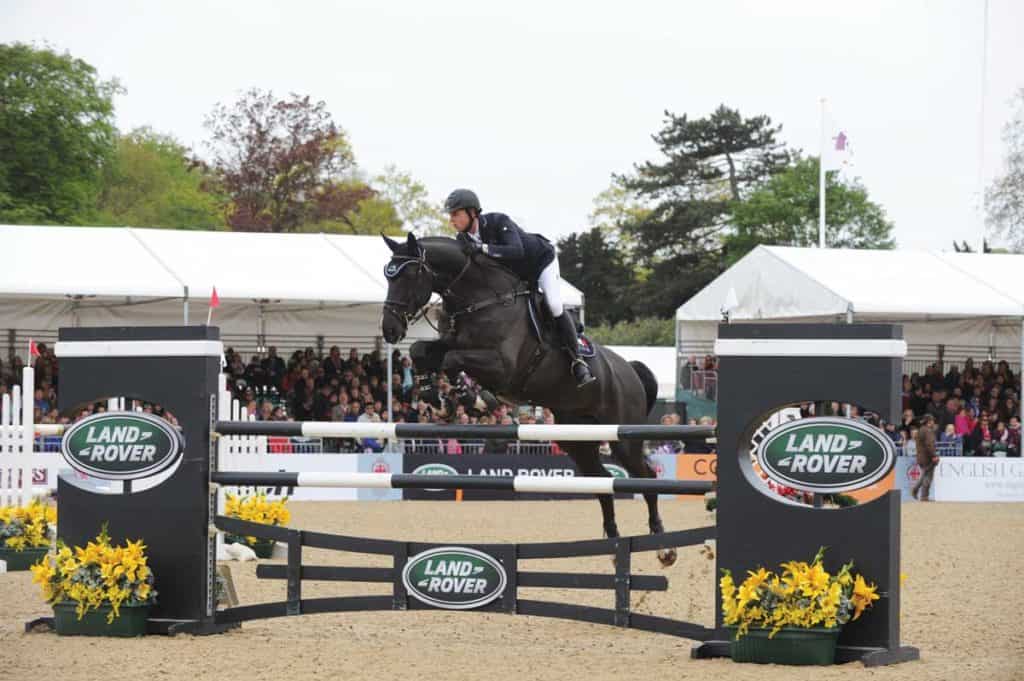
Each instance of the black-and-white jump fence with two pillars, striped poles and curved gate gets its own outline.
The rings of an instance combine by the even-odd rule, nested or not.
[[[260,428],[282,426],[218,420],[217,377],[222,352],[219,330],[61,329],[56,345],[60,357],[61,412],[73,414],[82,403],[111,396],[159,403],[178,420],[183,450],[175,467],[168,469],[166,479],[152,486],[139,484],[126,494],[100,493],[61,476],[58,537],[69,545],[84,545],[106,523],[114,541],[143,539],[160,591],[160,601],[151,611],[150,628],[154,632],[205,634],[263,618],[449,607],[563,618],[682,636],[701,642],[692,651],[695,657],[728,655],[729,630],[722,621],[720,596],[716,594],[714,627],[633,612],[631,591],[668,588],[663,578],[630,572],[634,553],[715,540],[715,574],[721,569],[744,574],[759,566],[807,560],[824,546],[830,547],[825,557],[827,569],[834,571],[839,565],[855,560],[857,570],[878,584],[882,596],[864,616],[844,627],[838,659],[881,665],[916,658],[918,650],[903,646],[899,637],[899,493],[890,492],[872,502],[841,510],[791,504],[762,483],[751,461],[752,441],[765,420],[781,408],[839,400],[895,421],[900,413],[899,380],[905,353],[902,331],[886,325],[723,325],[719,339],[716,526],[583,542],[439,545],[325,535],[226,518],[217,514],[217,484],[302,485],[305,480],[348,486],[384,486],[386,482],[386,486],[430,484],[471,488],[502,484],[518,491],[523,488],[521,485],[538,490],[536,485],[547,483],[519,478],[497,482],[493,478],[481,482],[453,476],[426,479],[401,474],[387,476],[385,480],[380,476],[331,479],[326,473],[220,472],[218,426],[222,429],[220,434],[253,434]],[[287,426],[290,430],[296,427],[305,432],[305,424]],[[311,431],[325,426],[308,428]],[[519,427],[512,436],[539,439],[547,431],[538,428],[541,427]],[[566,438],[663,439],[666,432],[648,426],[581,428],[584,429],[565,426]],[[420,432],[420,436],[424,434],[427,431]],[[482,434],[474,429],[469,436]],[[502,431],[495,436],[507,435]],[[709,437],[710,433],[707,429],[690,429],[671,438],[682,439],[680,435]],[[384,436],[400,435],[394,431]],[[612,478],[581,478],[577,483],[590,485],[584,487],[588,494],[601,495],[627,491],[699,494],[707,486],[679,480]],[[563,492],[573,492],[563,483],[558,486]],[[288,545],[287,564],[260,565],[257,572],[263,579],[284,580],[285,600],[217,609],[214,528]],[[388,555],[392,563],[390,567],[379,568],[303,565],[303,546]],[[520,570],[518,563],[532,558],[595,555],[613,556],[613,573],[535,572]],[[392,589],[383,596],[303,598],[302,583],[309,580],[384,583],[391,584]],[[519,598],[519,588],[544,587],[606,589],[614,593],[614,607]],[[443,597],[438,595],[449,594],[446,589],[454,591]],[[477,597],[478,591],[483,595]],[[456,600],[456,595],[464,600]]]

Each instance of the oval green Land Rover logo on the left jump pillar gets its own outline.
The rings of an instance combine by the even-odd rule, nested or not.
[[[170,468],[182,441],[151,414],[110,412],[82,419],[65,433],[60,453],[75,470],[106,480],[137,480]]]

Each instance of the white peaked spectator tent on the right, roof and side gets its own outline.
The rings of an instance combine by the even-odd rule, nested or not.
[[[676,310],[679,356],[730,321],[902,324],[907,369],[944,358],[1019,366],[1024,255],[759,246]]]

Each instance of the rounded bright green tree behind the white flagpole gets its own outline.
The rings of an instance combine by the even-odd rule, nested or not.
[[[818,159],[796,163],[733,205],[725,238],[726,264],[759,244],[815,246],[818,243]],[[831,248],[890,249],[892,223],[859,183],[839,173],[825,177],[825,243]]]

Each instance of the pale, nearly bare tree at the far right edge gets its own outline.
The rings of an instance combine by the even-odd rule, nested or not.
[[[1017,91],[1017,112],[1002,129],[1007,172],[985,195],[990,231],[1024,251],[1024,88]]]

